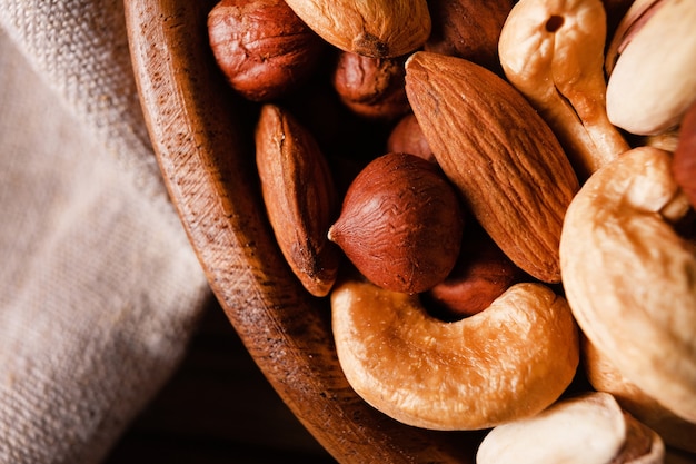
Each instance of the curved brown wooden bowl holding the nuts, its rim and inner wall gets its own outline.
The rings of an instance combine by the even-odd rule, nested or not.
[[[476,434],[397,423],[367,405],[344,377],[328,300],[301,287],[267,223],[253,162],[253,116],[229,89],[208,45],[213,4],[125,2],[161,174],[227,317],[278,395],[337,461],[474,462]]]

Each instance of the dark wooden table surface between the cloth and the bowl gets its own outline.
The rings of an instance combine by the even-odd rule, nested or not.
[[[180,368],[106,464],[335,463],[266,381],[216,300]]]

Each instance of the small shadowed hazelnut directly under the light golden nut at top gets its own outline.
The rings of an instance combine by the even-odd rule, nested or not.
[[[341,101],[355,113],[378,120],[394,120],[410,110],[404,88],[404,60],[370,58],[340,52],[332,83]]]

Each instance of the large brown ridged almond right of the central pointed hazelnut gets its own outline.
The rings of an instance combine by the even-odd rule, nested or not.
[[[461,58],[414,53],[406,92],[438,164],[488,235],[523,270],[560,282],[560,230],[579,186],[548,125],[509,83]]]

